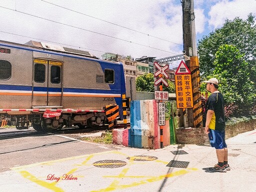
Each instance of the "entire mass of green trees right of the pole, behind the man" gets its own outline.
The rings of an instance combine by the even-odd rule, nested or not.
[[[235,115],[251,114],[256,104],[256,25],[247,20],[226,20],[198,42],[201,78],[216,77],[227,104],[238,106]],[[201,91],[206,89],[202,83]]]

